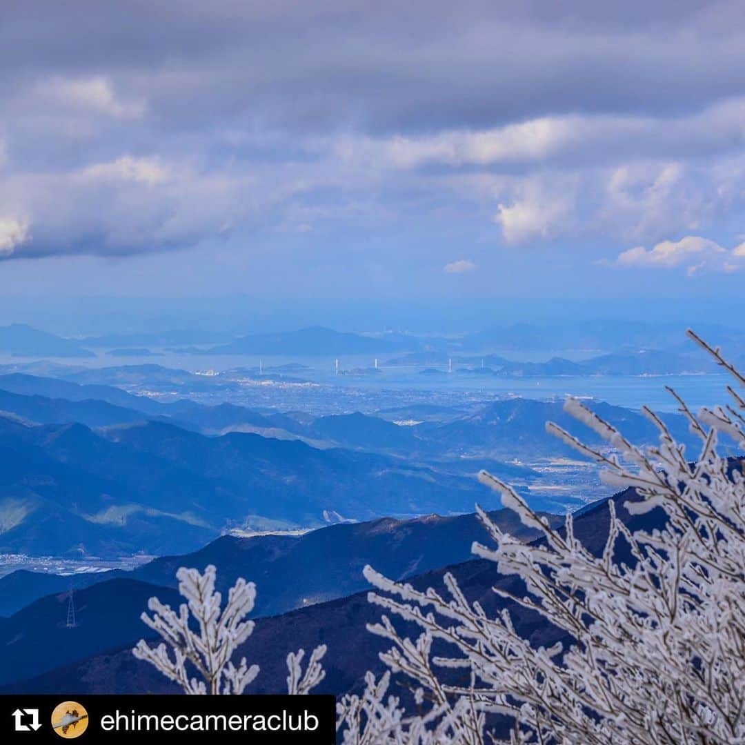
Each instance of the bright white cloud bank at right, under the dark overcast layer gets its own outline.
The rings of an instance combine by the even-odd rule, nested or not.
[[[508,244],[656,243],[741,214],[744,122],[745,98],[733,98],[691,115],[555,115],[488,130],[346,135],[327,147],[352,179],[373,173],[378,183],[449,191],[475,205],[490,197]],[[481,194],[466,194],[476,177]]]

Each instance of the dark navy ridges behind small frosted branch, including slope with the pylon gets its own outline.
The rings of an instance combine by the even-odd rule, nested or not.
[[[561,520],[547,518],[555,524]],[[535,536],[508,510],[492,513],[492,519],[513,535]],[[148,597],[157,595],[172,606],[179,602],[174,575],[180,566],[201,571],[210,563],[216,565],[223,595],[238,577],[249,577],[258,588],[254,615],[265,617],[323,606],[364,590],[362,568],[370,563],[405,579],[466,561],[475,540],[486,540],[486,531],[472,514],[405,522],[381,519],[303,536],[225,536],[194,554],[155,559],[131,572],[74,578],[15,572],[0,579],[0,595],[12,598],[13,606],[25,604],[0,618],[0,634],[7,640],[0,647],[0,685],[16,679],[19,670],[31,677],[134,644],[148,631],[139,621]],[[73,582],[77,626],[66,628]]]

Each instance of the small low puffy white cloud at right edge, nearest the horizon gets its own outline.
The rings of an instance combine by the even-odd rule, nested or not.
[[[673,269],[685,267],[688,276],[701,270],[733,272],[740,268],[737,259],[745,257],[742,246],[732,251],[708,238],[688,235],[679,241],[662,241],[652,249],[637,246],[624,251],[615,260],[618,267],[655,267]]]

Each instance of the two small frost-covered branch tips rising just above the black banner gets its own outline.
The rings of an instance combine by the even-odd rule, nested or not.
[[[180,568],[176,577],[187,603],[175,612],[157,597],[150,597],[148,608],[153,615],[141,616],[163,641],[150,647],[145,639],[140,639],[133,649],[134,656],[150,662],[186,694],[242,694],[259,674],[259,666],[248,665],[245,657],[237,668],[232,662],[235,650],[253,633],[254,622],[244,618],[253,610],[256,586],[239,578],[221,609],[221,594],[215,591],[216,575],[213,565],[204,574],[197,569]],[[325,654],[325,645],[316,647],[305,673],[301,665],[305,651],[288,654],[288,693],[308,694],[323,680],[326,673],[320,661]],[[190,669],[198,676],[190,674]]]

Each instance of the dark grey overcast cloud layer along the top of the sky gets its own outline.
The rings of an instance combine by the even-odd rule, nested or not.
[[[738,3],[5,4],[4,75],[112,75],[167,126],[491,127],[694,110],[745,81]]]

